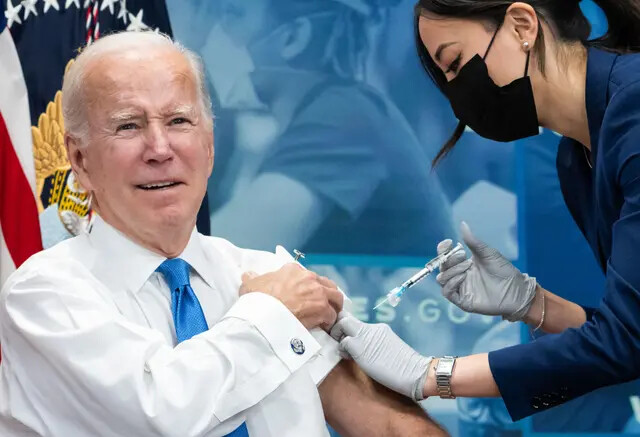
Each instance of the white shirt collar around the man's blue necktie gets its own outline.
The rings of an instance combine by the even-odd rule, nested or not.
[[[201,238],[203,236],[194,227],[189,242],[179,257],[188,262],[213,287],[211,257],[214,254],[205,253]],[[137,292],[167,259],[132,241],[99,216],[95,218],[89,241],[101,260],[94,266],[95,275],[114,292]]]

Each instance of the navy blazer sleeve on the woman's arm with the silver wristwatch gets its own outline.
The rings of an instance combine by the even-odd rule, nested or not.
[[[611,98],[600,133],[598,183],[619,193],[606,201],[620,206],[600,307],[578,329],[489,354],[513,420],[640,377],[639,101],[640,82],[620,89]]]

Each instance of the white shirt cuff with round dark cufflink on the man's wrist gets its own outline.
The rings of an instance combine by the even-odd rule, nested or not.
[[[247,293],[222,318],[236,318],[253,325],[269,342],[291,373],[321,349],[307,328],[278,299],[265,293]]]

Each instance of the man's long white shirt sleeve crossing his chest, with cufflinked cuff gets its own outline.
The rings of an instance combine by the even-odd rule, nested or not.
[[[28,399],[42,434],[225,435],[320,349],[262,293],[243,296],[208,331],[172,347],[125,319],[79,264],[69,275],[69,261],[28,263],[1,295],[1,372],[5,408],[19,417]]]

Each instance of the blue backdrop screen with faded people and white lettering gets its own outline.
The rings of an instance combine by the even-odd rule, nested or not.
[[[419,65],[414,0],[167,3],[214,100],[214,235],[305,252],[359,318],[391,324],[427,355],[528,341],[519,324],[453,307],[433,280],[397,308],[372,309],[440,240],[458,239],[461,220],[545,288],[598,305],[603,276],[562,200],[556,134],[502,144],[466,132],[432,171],[456,120]],[[581,6],[603,33],[601,11]],[[460,436],[633,433],[638,393],[635,382],[611,387],[516,424],[496,399],[424,408]]]

